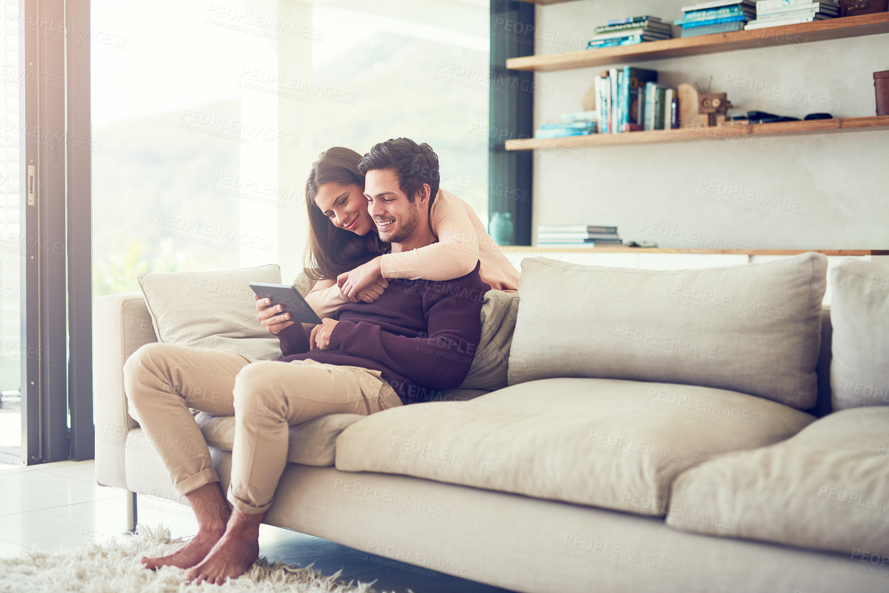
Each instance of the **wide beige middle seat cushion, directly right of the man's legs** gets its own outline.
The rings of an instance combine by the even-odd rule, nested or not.
[[[372,414],[337,438],[336,468],[662,517],[679,472],[814,420],[723,389],[606,379],[528,381],[472,403]]]

